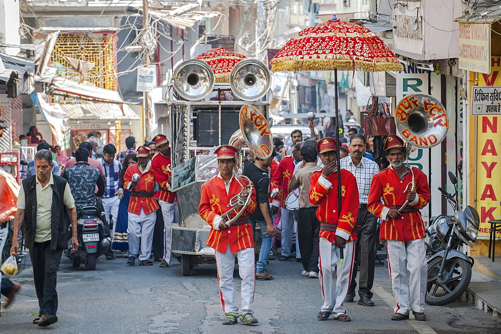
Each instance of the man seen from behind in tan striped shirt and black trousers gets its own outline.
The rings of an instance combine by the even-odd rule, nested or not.
[[[303,262],[303,276],[318,278],[318,243],[320,221],[317,218],[318,205],[312,204],[309,199],[310,177],[322,167],[317,165],[317,147],[307,145],[301,148],[304,166],[294,173],[289,182],[289,190],[299,187],[299,219],[298,238],[301,245],[301,259]]]

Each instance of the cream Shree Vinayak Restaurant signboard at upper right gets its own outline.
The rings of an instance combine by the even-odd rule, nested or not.
[[[490,24],[459,23],[458,66],[490,74]]]

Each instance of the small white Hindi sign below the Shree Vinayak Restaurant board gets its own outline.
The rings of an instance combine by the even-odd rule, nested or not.
[[[501,86],[473,86],[471,90],[471,114],[501,114]]]

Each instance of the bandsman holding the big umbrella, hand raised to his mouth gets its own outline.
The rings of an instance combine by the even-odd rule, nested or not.
[[[319,278],[324,304],[317,314],[319,320],[327,320],[334,313],[339,321],[351,321],[343,307],[350,287],[355,256],[354,230],[358,215],[358,186],[355,176],[341,169],[341,210],[338,201],[338,172],[336,140],[325,137],[317,142],[317,150],[324,168],[310,177],[310,202],[318,205],[320,220]],[[344,256],[341,257],[343,248]],[[334,274],[337,275],[334,285]]]

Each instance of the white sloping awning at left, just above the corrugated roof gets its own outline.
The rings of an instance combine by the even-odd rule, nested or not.
[[[69,80],[63,77],[53,78],[50,82],[50,89],[79,96],[97,98],[100,100],[108,100],[118,103],[124,102],[122,96],[120,96],[118,91],[115,90],[104,89],[85,83],[78,83],[77,81]]]

